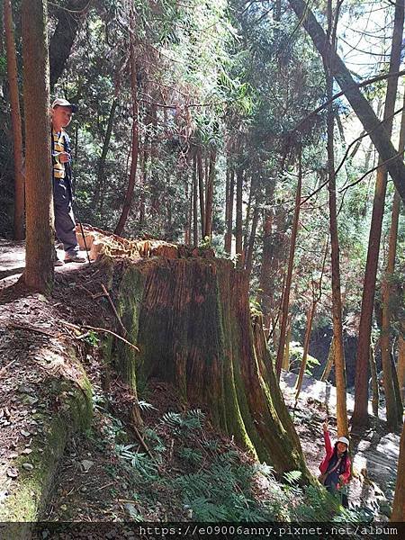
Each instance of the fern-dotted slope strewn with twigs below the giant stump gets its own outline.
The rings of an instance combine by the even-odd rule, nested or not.
[[[94,374],[99,370],[94,368]],[[358,521],[321,488],[300,487],[300,473],[276,478],[200,409],[179,406],[168,385],[152,381],[139,400],[144,445],[126,410],[130,393],[118,380],[109,392],[93,380],[92,428],[67,446],[49,521]],[[145,449],[147,448],[147,450]]]

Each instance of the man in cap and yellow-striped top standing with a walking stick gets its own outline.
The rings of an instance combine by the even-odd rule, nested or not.
[[[55,213],[55,230],[58,240],[65,249],[65,261],[56,258],[55,266],[65,263],[85,263],[80,257],[76,238],[76,222],[72,202],[72,168],[70,165],[70,139],[65,128],[69,125],[72,114],[77,111],[73,103],[57,98],[51,106],[51,148],[52,148],[52,184]]]

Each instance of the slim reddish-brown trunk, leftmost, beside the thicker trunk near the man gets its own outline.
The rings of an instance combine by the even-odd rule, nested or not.
[[[7,74],[10,87],[10,105],[13,126],[14,150],[14,239],[24,238],[24,176],[23,133],[18,92],[17,60],[15,57],[13,12],[11,0],[4,0],[4,32],[7,52]]]

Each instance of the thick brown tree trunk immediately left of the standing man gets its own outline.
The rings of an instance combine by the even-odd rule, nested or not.
[[[47,3],[23,0],[23,93],[26,170],[26,251],[22,281],[49,293],[53,285],[52,185],[49,139]],[[33,136],[35,134],[35,136]]]

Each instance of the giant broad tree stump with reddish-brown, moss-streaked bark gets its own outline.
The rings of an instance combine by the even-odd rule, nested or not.
[[[311,482],[261,320],[252,326],[247,272],[191,254],[198,250],[172,246],[166,257],[120,266],[121,317],[139,347],[118,355],[121,374],[133,387],[150,377],[174,384],[277,473],[301,470]]]

